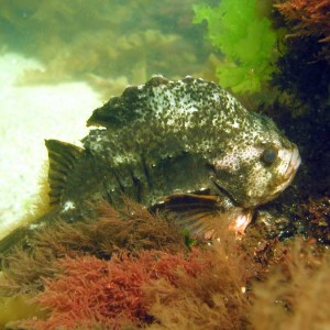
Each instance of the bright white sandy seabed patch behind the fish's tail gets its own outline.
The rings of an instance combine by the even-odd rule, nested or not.
[[[16,54],[0,57],[0,239],[33,210],[45,139],[79,143],[99,96],[84,81],[57,85],[16,84],[35,61]]]

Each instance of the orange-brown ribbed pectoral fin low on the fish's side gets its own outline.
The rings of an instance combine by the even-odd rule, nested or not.
[[[218,196],[200,194],[169,195],[160,208],[169,213],[178,226],[198,234],[210,230],[209,219],[221,209]]]

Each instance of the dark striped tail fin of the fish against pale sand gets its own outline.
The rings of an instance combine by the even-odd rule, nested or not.
[[[51,205],[61,204],[68,174],[81,156],[84,148],[58,140],[45,140],[48,151],[48,183]]]

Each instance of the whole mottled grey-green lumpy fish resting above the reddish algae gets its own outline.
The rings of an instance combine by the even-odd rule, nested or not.
[[[54,207],[45,219],[77,221],[94,212],[91,205],[120,206],[129,197],[151,211],[175,212],[193,232],[206,231],[215,212],[242,231],[301,162],[272,119],[190,76],[129,86],[96,109],[87,127],[82,146],[45,141]]]

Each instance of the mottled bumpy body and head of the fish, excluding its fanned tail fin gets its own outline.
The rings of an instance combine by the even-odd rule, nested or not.
[[[82,179],[70,183],[62,202],[86,194],[117,202],[123,193],[151,206],[173,193],[224,189],[238,206],[253,208],[286,188],[300,163],[271,119],[191,77],[155,76],[129,87],[95,110],[88,125],[101,128],[82,140],[72,174]]]

